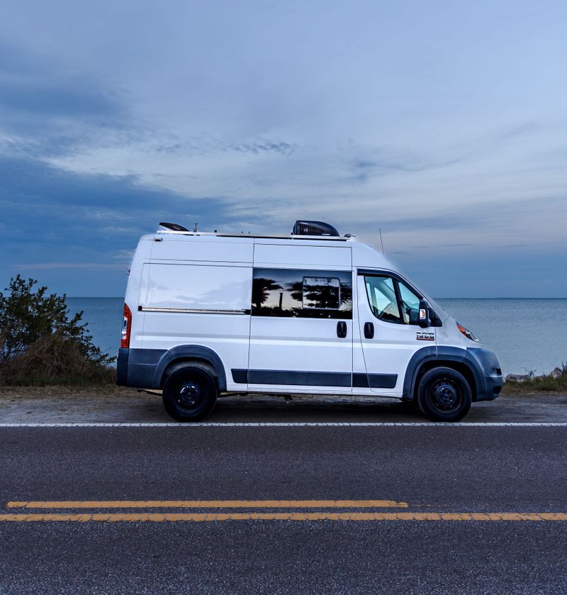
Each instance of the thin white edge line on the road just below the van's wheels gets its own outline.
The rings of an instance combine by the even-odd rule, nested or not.
[[[199,423],[91,422],[91,423],[0,423],[0,428],[567,428],[567,421],[209,421]]]

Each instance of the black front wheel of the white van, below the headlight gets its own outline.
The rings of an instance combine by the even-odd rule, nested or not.
[[[432,421],[461,421],[472,403],[471,387],[452,368],[432,368],[417,386],[417,404]]]

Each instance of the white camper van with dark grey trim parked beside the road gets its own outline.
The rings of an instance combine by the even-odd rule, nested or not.
[[[318,221],[284,237],[161,223],[130,269],[118,384],[177,421],[237,393],[376,395],[434,421],[502,389],[497,357],[380,253]]]

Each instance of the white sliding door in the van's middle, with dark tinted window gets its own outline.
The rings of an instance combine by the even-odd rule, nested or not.
[[[352,391],[351,250],[254,248],[249,389]]]

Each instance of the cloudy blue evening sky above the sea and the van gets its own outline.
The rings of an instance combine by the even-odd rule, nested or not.
[[[436,297],[567,297],[567,4],[0,0],[0,285],[327,221]]]

